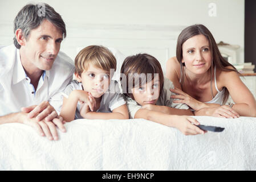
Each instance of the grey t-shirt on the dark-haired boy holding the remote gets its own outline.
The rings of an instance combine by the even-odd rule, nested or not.
[[[164,86],[162,88],[162,93],[160,93],[159,100],[157,100],[156,105],[169,106],[176,109],[189,109],[189,106],[186,104],[173,103],[173,100],[177,99],[170,98],[171,95],[176,95],[175,93],[170,92],[170,88],[174,89],[172,81],[170,81],[168,78],[164,78]],[[127,97],[126,100],[129,118],[133,119],[137,111],[141,109],[142,106],[137,104],[137,102],[130,97]]]

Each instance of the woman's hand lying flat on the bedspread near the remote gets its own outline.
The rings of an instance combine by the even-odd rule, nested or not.
[[[197,114],[199,113],[199,114]],[[238,118],[239,114],[228,105],[222,105],[218,107],[207,107],[201,110],[195,111],[195,115],[210,115],[221,118]]]

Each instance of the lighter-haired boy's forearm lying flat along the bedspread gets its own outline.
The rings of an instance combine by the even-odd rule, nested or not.
[[[127,105],[121,105],[113,109],[112,113],[91,112],[82,115],[86,119],[129,119]]]

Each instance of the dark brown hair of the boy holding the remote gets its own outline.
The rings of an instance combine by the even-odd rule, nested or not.
[[[125,96],[134,99],[131,89],[138,85],[143,85],[148,81],[152,81],[156,76],[155,74],[159,75],[160,94],[162,92],[162,87],[164,86],[164,74],[162,73],[161,64],[155,57],[148,55],[147,53],[139,53],[125,58],[120,73],[120,81]],[[144,80],[140,77],[141,74],[145,74]],[[139,79],[141,78],[141,80],[138,81],[138,77]],[[132,83],[132,88],[129,88],[129,86],[131,86],[129,83]]]

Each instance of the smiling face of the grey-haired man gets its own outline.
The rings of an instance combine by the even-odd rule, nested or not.
[[[31,68],[49,70],[59,53],[63,40],[62,31],[48,20],[43,20],[39,27],[30,31],[21,46],[22,61]]]

